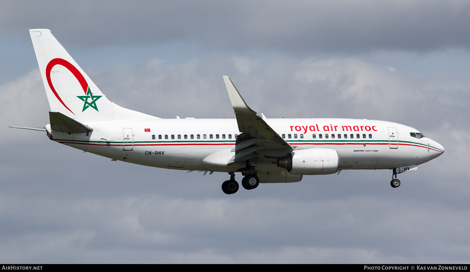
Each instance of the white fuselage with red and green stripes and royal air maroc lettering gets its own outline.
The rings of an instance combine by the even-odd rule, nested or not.
[[[416,129],[392,122],[339,118],[264,120],[295,149],[336,150],[340,170],[418,165],[444,152],[436,141],[411,136],[410,132],[419,132]],[[47,130],[57,142],[130,163],[209,171],[235,171],[243,166],[235,163],[221,169],[203,163],[207,156],[235,146],[235,134],[241,133],[236,119],[118,120],[86,125],[94,128],[88,136],[51,132],[50,126]],[[262,162],[257,170],[285,171],[273,163]]]

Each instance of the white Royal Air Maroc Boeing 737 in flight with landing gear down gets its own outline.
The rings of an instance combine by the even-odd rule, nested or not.
[[[261,183],[298,182],[303,175],[345,169],[417,170],[444,148],[418,130],[366,119],[266,118],[250,109],[223,77],[236,119],[162,119],[114,104],[47,29],[31,29],[51,111],[50,140],[113,161],[189,171],[227,172],[222,191]],[[21,127],[25,128],[25,127]]]

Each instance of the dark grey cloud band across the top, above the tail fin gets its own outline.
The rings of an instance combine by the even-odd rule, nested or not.
[[[459,0],[13,1],[0,10],[3,33],[49,28],[79,47],[183,43],[305,56],[470,46],[470,4]]]

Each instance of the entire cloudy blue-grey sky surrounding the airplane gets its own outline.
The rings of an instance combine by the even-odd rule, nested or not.
[[[468,1],[0,2],[0,262],[468,263]],[[111,101],[157,117],[379,119],[444,155],[222,193],[226,173],[111,162],[48,140],[28,33],[48,28]]]

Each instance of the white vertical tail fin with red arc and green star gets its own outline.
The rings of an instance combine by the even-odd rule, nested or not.
[[[50,30],[30,35],[52,112],[81,122],[157,118],[109,101]]]

